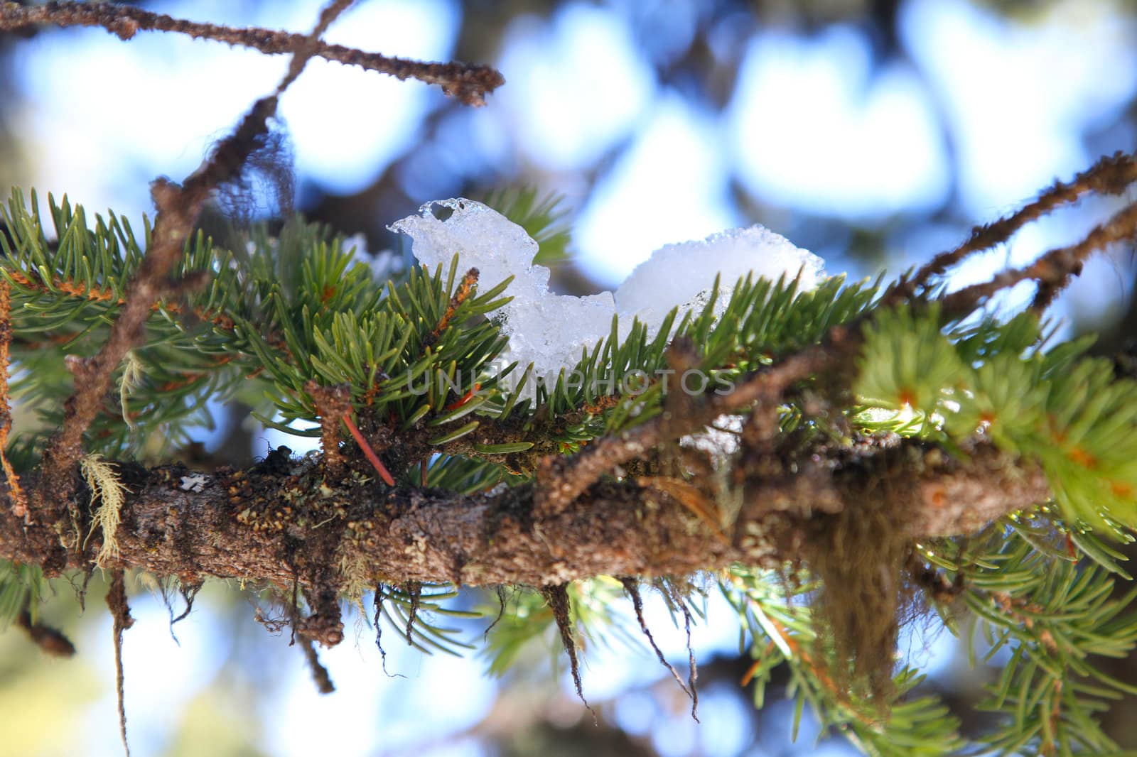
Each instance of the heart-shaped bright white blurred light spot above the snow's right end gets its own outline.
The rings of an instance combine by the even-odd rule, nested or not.
[[[853,28],[755,36],[730,125],[738,174],[765,202],[879,218],[945,200],[947,156],[928,93],[905,66],[873,70]]]

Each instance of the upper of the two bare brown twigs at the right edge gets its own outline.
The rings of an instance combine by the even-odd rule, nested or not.
[[[968,238],[968,241],[954,250],[937,255],[902,286],[904,291],[897,290],[893,297],[910,296],[969,255],[988,250],[1007,241],[1031,221],[1045,216],[1059,206],[1077,201],[1087,192],[1121,194],[1135,181],[1137,181],[1137,159],[1134,156],[1115,152],[1107,158],[1102,158],[1093,167],[1074,176],[1069,184],[1055,182],[1054,186],[1039,194],[1037,200],[1020,210],[994,223],[976,226],[971,230],[971,236]]]

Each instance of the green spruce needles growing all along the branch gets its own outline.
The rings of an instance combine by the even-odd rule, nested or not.
[[[496,199],[545,234],[543,259],[563,255],[555,202],[531,193]],[[89,356],[106,338],[152,230],[143,219],[135,233],[114,214],[91,223],[66,198],[49,197],[44,218],[35,194],[28,203],[18,192],[0,221],[8,228],[0,236],[0,276],[11,289],[15,332],[11,394],[36,413],[17,430],[9,455],[18,467],[39,458],[45,434],[58,426],[70,391],[66,356]],[[1115,596],[1114,582],[1129,576],[1109,543],[1131,540],[1137,526],[1137,382],[1086,357],[1088,341],[1045,350],[1043,327],[1029,313],[966,321],[935,303],[886,306],[880,280],[849,284],[835,276],[799,292],[795,280],[746,278],[721,315],[715,294],[702,310],[671,311],[650,338],[636,323],[621,339],[614,322],[574,371],[545,385],[532,366],[495,364],[506,339],[492,313],[508,298],[509,281],[480,281],[457,257],[445,269],[412,268],[379,281],[341,239],[296,219],[276,236],[256,231],[246,250],[218,249],[199,233],[180,266],[177,276],[204,285],[153,308],[146,344],[118,367],[118,406],[108,399],[88,432],[89,452],[168,459],[210,423],[210,405],[233,399],[254,404],[269,426],[319,435],[315,382],[346,385],[360,426],[393,419],[431,448],[424,471],[396,471],[404,483],[484,491],[531,481],[540,456],[576,450],[662,414],[663,382],[629,389],[621,378],[656,376],[678,336],[695,346],[695,367],[732,382],[821,343],[835,326],[860,330],[860,371],[839,418],[818,417],[805,393],[791,394],[780,410],[783,430],[837,446],[850,444],[850,430],[894,433],[960,456],[978,434],[1037,461],[1053,506],[996,523],[979,538],[919,544],[926,572],[953,588],[946,597],[926,592],[927,601],[953,632],[982,640],[976,655],[1006,655],[985,705],[997,715],[986,747],[1001,755],[1117,749],[1095,715],[1106,700],[1137,690],[1102,673],[1093,658],[1124,656],[1137,644],[1135,593]],[[468,443],[476,429],[491,429],[492,443]],[[866,754],[976,748],[915,669],[901,669],[886,702],[843,683],[847,662],[818,624],[811,607],[818,587],[807,568],[788,566],[779,575],[739,565],[716,577],[738,612],[741,647],[755,660],[747,676],[755,705],[763,705],[773,669],[785,665],[797,717],[808,705],[827,729]],[[0,564],[0,623],[34,612],[44,585],[32,566]],[[683,581],[659,585],[684,622],[698,614],[698,591]],[[632,638],[629,616],[615,609],[621,587],[604,576],[571,585],[582,638]],[[346,593],[360,601],[362,591]],[[456,594],[449,585],[425,593],[421,585],[380,585],[375,622],[424,651],[468,649],[458,630],[430,619],[470,616],[442,604]],[[495,673],[524,644],[554,635],[556,623],[533,590],[518,590],[501,609],[487,647]]]

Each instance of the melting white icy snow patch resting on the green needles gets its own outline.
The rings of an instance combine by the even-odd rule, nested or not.
[[[435,208],[449,210],[440,219]],[[659,327],[675,306],[702,307],[720,275],[716,309],[730,300],[735,284],[753,272],[777,281],[800,272],[800,290],[813,289],[824,276],[824,263],[785,236],[763,226],[735,228],[712,234],[703,241],[667,244],[632,271],[613,292],[589,297],[549,293],[549,269],[533,265],[538,244],[525,231],[496,210],[473,200],[428,202],[420,215],[390,226],[412,239],[418,263],[434,269],[448,268],[455,252],[463,271],[478,268],[483,288],[514,276],[506,293],[513,300],[495,315],[509,338],[503,355],[521,366],[533,364],[534,374],[555,377],[571,368],[586,348],[594,347],[612,331],[612,316],[620,318],[620,336],[626,335],[632,318]]]

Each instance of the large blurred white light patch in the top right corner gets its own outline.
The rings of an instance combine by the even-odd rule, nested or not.
[[[901,32],[957,140],[960,200],[987,219],[1096,158],[1086,130],[1137,88],[1137,30],[1110,2],[1065,0],[1027,23],[965,0],[911,0]]]

